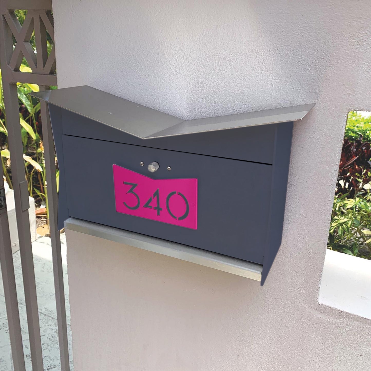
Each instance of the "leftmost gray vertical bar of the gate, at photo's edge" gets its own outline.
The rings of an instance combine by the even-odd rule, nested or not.
[[[3,168],[0,167],[0,264],[3,278],[6,315],[14,370],[26,370],[24,365],[22,332],[19,320],[16,279],[14,276],[12,244],[4,191]]]

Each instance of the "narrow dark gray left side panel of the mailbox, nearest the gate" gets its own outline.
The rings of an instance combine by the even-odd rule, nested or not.
[[[58,158],[59,169],[59,190],[58,190],[58,222],[57,228],[61,230],[64,227],[64,221],[68,218],[65,167],[62,144],[62,109],[58,106],[48,103],[50,123],[54,138],[55,152]]]

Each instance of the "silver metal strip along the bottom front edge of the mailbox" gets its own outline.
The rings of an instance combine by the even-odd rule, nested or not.
[[[197,249],[180,243],[174,243],[145,236],[144,234],[128,232],[119,228],[91,223],[89,221],[69,218],[65,221],[65,228],[105,240],[123,243],[139,249],[152,251],[158,254],[171,256],[187,262],[203,265],[233,275],[251,278],[260,281],[262,265],[217,253]]]

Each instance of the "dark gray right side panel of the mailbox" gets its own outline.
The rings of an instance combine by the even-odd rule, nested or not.
[[[262,280],[260,281],[260,285],[262,286],[267,279],[269,270],[272,267],[282,242],[293,124],[293,122],[276,124],[269,232],[267,234],[266,251],[264,254]]]

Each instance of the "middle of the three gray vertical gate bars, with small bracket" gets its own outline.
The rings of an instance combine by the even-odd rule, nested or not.
[[[3,16],[1,19],[1,66],[7,66],[6,58],[12,55],[12,34]],[[6,53],[4,53],[4,51]],[[5,113],[8,129],[10,161],[16,217],[18,226],[19,250],[22,264],[24,299],[26,303],[27,325],[33,370],[43,370],[43,357],[40,339],[39,312],[37,308],[35,271],[28,217],[29,200],[27,181],[24,174],[22,135],[19,120],[17,85],[9,81],[7,73],[2,73]]]

